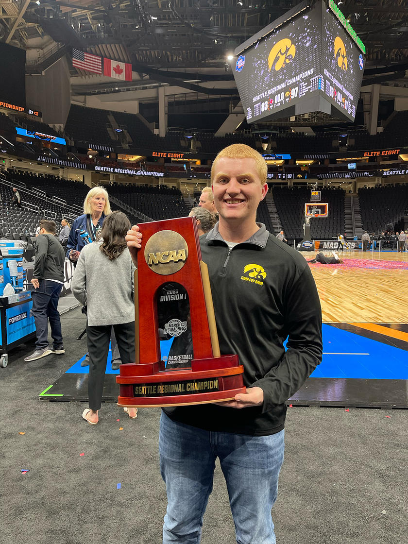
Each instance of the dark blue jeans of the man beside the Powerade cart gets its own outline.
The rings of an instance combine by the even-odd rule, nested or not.
[[[38,289],[33,289],[33,316],[35,322],[36,342],[35,347],[43,350],[48,348],[48,319],[50,320],[53,349],[63,345],[61,332],[61,320],[58,312],[59,293],[62,283],[50,280],[39,280]]]

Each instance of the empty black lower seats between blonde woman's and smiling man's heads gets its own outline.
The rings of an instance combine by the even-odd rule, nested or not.
[[[189,208],[178,189],[113,183],[107,190],[109,194],[155,221],[186,217],[189,213]]]

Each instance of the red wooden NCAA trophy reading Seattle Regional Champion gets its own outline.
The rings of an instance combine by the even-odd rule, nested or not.
[[[194,218],[138,225],[135,363],[116,376],[119,406],[214,403],[244,393],[238,355],[220,355],[207,265]]]

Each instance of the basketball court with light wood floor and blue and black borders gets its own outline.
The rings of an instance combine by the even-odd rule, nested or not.
[[[316,254],[302,253],[308,261]],[[343,263],[308,264],[322,304],[323,361],[288,404],[407,408],[408,253],[344,250],[338,255]],[[39,398],[88,400],[84,357]],[[110,369],[109,351],[104,401],[116,401],[118,374]]]

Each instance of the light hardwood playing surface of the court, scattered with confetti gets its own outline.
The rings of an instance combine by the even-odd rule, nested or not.
[[[310,260],[316,253],[302,255]],[[332,256],[331,251],[323,254]],[[367,266],[373,264],[369,261],[408,263],[408,253],[345,250],[338,255],[344,264],[311,266],[323,322],[408,323],[408,269],[363,268],[362,262],[367,261]],[[359,263],[355,262],[357,259]],[[357,267],[348,261],[354,261]]]

